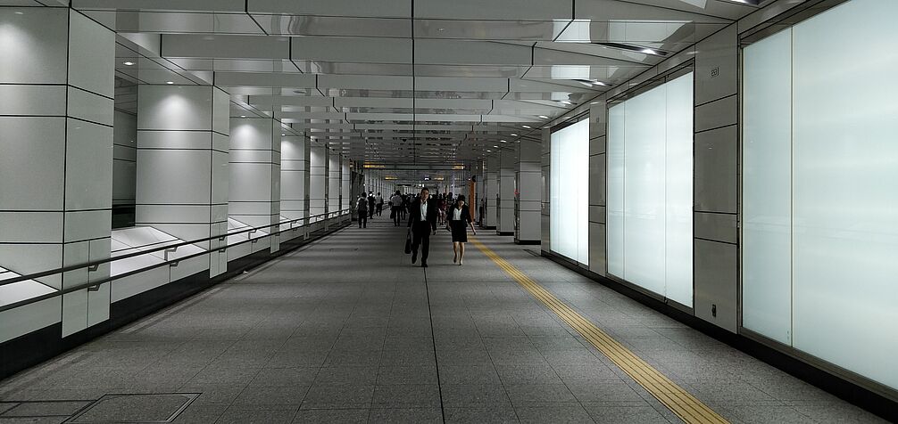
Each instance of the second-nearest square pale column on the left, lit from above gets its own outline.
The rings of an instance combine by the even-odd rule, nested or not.
[[[196,85],[141,85],[137,93],[136,225],[183,240],[225,234],[230,96]],[[211,252],[200,267],[210,277],[227,269],[227,253],[217,250],[224,243],[197,245]]]

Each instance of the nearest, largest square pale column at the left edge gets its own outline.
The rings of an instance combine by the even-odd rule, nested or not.
[[[0,268],[110,256],[115,34],[81,13],[0,7]],[[0,288],[0,304],[109,277],[109,264]],[[110,284],[0,313],[0,342],[109,319]]]

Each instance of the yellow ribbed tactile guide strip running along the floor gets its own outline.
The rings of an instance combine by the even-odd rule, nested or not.
[[[549,291],[543,289],[539,284],[515,268],[515,266],[509,264],[501,256],[496,255],[489,247],[484,246],[483,243],[476,239],[471,239],[471,241],[484,255],[487,255],[503,271],[524,286],[524,289],[529,291],[534,298],[539,299],[546,307],[549,307],[562,320],[573,327],[574,330],[577,330],[577,333],[580,333],[586,340],[593,343],[596,349],[602,351],[623,372],[636,380],[639,385],[645,387],[648,393],[655,396],[659,402],[663,403],[683,421],[688,423],[728,422],[717,412],[712,411],[707,405],[696,399],[695,396],[676,385],[670,378],[648,365],[646,361],[639,359],[632,351],[624,347],[620,342],[612,339],[602,329],[577,314],[574,309],[568,307]]]

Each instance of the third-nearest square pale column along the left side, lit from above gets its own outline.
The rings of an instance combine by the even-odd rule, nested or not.
[[[251,227],[280,222],[280,128],[270,117],[231,118],[228,216]],[[269,239],[277,252],[279,236]]]

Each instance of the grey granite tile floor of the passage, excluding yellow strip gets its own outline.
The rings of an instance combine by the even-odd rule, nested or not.
[[[638,302],[478,238],[732,422],[882,422]],[[351,226],[0,381],[0,424],[105,394],[190,393],[174,422],[679,422],[472,244],[429,268]],[[117,417],[108,417],[115,420]]]

